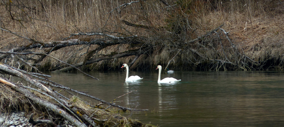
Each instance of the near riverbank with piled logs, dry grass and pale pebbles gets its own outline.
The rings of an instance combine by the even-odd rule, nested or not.
[[[42,123],[51,126],[56,124],[56,126],[66,127],[69,125],[76,127],[128,125],[155,127],[120,114],[129,111],[148,111],[148,109],[123,107],[115,104],[119,101],[104,101],[93,95],[55,83],[47,79],[50,76],[42,75],[45,78],[40,78],[20,69],[14,70],[9,67],[6,70],[3,66],[8,67],[9,65],[0,64],[0,110],[4,113],[1,114],[1,125],[3,126],[22,126],[24,123],[27,124],[28,120],[32,124]],[[10,71],[9,74],[15,72],[13,75],[21,79],[18,79],[17,83],[8,80],[2,75],[8,74],[7,71]],[[19,80],[28,82],[29,86]],[[92,101],[86,102],[74,93],[88,97]]]

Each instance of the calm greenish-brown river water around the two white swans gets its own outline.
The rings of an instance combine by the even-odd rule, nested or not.
[[[126,72],[123,71],[88,74],[99,81],[80,73],[50,73],[52,78],[49,79],[78,91],[88,91],[105,101],[134,91],[116,99],[122,101],[116,104],[148,109],[131,115],[146,124],[161,127],[284,126],[284,72],[161,74],[161,79],[181,79],[177,84],[158,84],[158,71],[130,71],[129,76],[144,78],[138,83],[125,83]]]

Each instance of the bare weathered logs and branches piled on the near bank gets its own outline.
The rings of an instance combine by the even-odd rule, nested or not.
[[[80,107],[75,107],[70,102],[68,102],[69,101],[68,98],[64,97],[63,95],[54,91],[51,88],[60,88],[60,89],[66,90],[66,91],[72,91],[72,92],[90,97],[92,99],[98,100],[98,101],[102,102],[103,104],[109,105],[109,107],[110,106],[118,107],[118,108],[120,108],[124,111],[125,110],[129,110],[129,111],[146,111],[147,110],[147,109],[137,110],[137,109],[131,109],[131,108],[115,105],[114,103],[107,102],[107,101],[104,101],[104,100],[99,99],[97,97],[88,95],[86,93],[82,93],[80,91],[76,91],[74,89],[68,88],[68,87],[63,86],[61,84],[57,84],[53,81],[48,80],[47,78],[39,77],[39,76],[47,76],[47,75],[44,75],[44,74],[29,73],[29,72],[26,72],[24,70],[14,68],[14,67],[11,67],[11,66],[5,65],[5,64],[0,64],[0,72],[1,72],[1,74],[8,74],[8,75],[11,75],[11,76],[17,76],[19,78],[22,78],[23,80],[25,80],[29,84],[33,85],[35,88],[31,88],[29,86],[24,86],[22,84],[13,83],[3,76],[0,76],[0,85],[6,85],[6,86],[11,87],[15,91],[20,92],[23,95],[25,95],[26,97],[28,97],[34,103],[41,105],[41,106],[49,109],[50,111],[53,111],[56,114],[61,115],[66,120],[69,120],[69,122],[73,123],[75,126],[78,126],[78,127],[84,127],[84,126],[86,127],[87,125],[98,126],[96,124],[96,122],[94,122],[94,120],[95,121],[98,120],[97,122],[101,122],[101,120],[98,119],[98,118],[93,118],[93,117],[86,115],[87,113],[84,113],[84,111],[81,110]],[[50,77],[50,76],[48,76],[48,77]],[[46,81],[44,81],[44,80],[46,80]],[[40,93],[40,94],[42,94],[46,97],[49,97],[49,98],[53,99],[54,101],[56,101],[58,104],[54,104],[54,103],[51,103],[49,101],[46,101],[46,100],[38,97],[37,95],[35,95],[31,91],[36,91],[36,92],[38,92],[38,93]],[[93,106],[93,107],[95,107],[95,106]],[[40,121],[35,122],[33,120],[30,120],[30,121],[31,121],[31,123],[34,123],[34,124],[42,122],[42,121],[41,122]],[[106,120],[103,120],[103,121],[106,121]],[[51,122],[49,121],[49,123],[51,123]]]

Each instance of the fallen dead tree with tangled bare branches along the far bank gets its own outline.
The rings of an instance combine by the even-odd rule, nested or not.
[[[125,20],[123,20],[123,22],[133,27],[147,28],[147,29],[151,28],[149,26],[143,26],[143,25],[137,26],[137,24],[131,24],[130,22],[127,22]],[[176,42],[172,42],[174,45],[173,47],[170,46],[169,50],[172,50],[171,48],[175,48],[175,49],[178,49],[179,52],[183,51],[183,53],[192,53],[192,55],[195,55],[196,57],[193,60],[189,60],[189,61],[191,62],[195,61],[195,62],[192,62],[194,63],[194,66],[198,65],[199,63],[204,63],[204,62],[209,63],[209,64],[211,63],[211,65],[213,65],[212,68],[215,68],[214,70],[216,71],[219,71],[221,66],[224,68],[224,70],[227,70],[227,67],[225,67],[226,64],[228,65],[230,64],[229,67],[232,67],[232,68],[236,68],[237,66],[237,68],[240,68],[242,70],[247,70],[246,66],[248,64],[248,61],[250,61],[249,63],[252,63],[255,66],[259,66],[260,64],[258,62],[253,61],[252,59],[248,58],[246,55],[244,55],[244,53],[241,53],[239,49],[237,49],[235,44],[233,44],[233,41],[229,38],[228,32],[226,32],[223,28],[221,28],[222,26],[223,24],[207,32],[206,34],[202,36],[198,36],[195,39],[191,39],[191,40],[185,39],[183,41],[177,40]],[[171,36],[179,36],[178,34],[171,33],[171,32],[169,32],[169,34]],[[103,60],[117,59],[117,58],[129,57],[129,56],[135,55],[133,61],[129,64],[129,66],[131,66],[139,58],[141,54],[145,54],[145,53],[152,54],[152,52],[155,50],[156,45],[159,45],[159,46],[171,45],[171,43],[169,44],[169,43],[163,43],[163,42],[161,42],[160,44],[159,43],[158,44],[149,43],[146,41],[147,38],[144,38],[143,36],[136,36],[136,35],[114,36],[112,34],[105,34],[103,32],[81,32],[81,33],[71,34],[69,38],[74,38],[75,36],[95,36],[98,38],[88,39],[89,41],[81,41],[80,39],[70,39],[66,41],[56,41],[56,42],[51,42],[51,43],[33,41],[32,39],[27,38],[28,40],[30,40],[31,43],[25,46],[15,47],[11,49],[9,52],[0,52],[1,54],[0,60],[3,61],[3,59],[5,59],[5,61],[7,61],[7,59],[11,59],[10,56],[13,57],[13,55],[10,55],[10,54],[14,54],[16,58],[20,60],[20,62],[28,65],[26,67],[31,67],[32,68],[31,71],[36,70],[37,72],[39,72],[40,70],[38,70],[34,65],[42,61],[45,57],[51,57],[49,56],[49,53],[51,53],[52,51],[56,51],[63,47],[68,47],[72,45],[84,45],[85,47],[88,47],[89,45],[98,45],[95,49],[92,49],[91,51],[86,51],[86,53],[80,53],[80,57],[81,57],[81,54],[86,54],[86,55],[84,55],[83,60],[79,60],[80,58],[78,58],[77,63],[67,64],[63,61],[60,61],[56,58],[51,57],[53,59],[56,59],[57,61],[60,61],[61,63],[68,65],[67,67],[62,66],[63,68],[58,68],[58,70],[55,70],[53,72],[66,72],[72,69],[76,69],[82,72],[80,69],[78,69],[78,67],[82,67],[83,70],[86,70],[88,69],[86,68],[86,65],[88,64],[96,63],[96,62],[103,61]],[[222,42],[224,40],[223,38],[226,38],[228,40],[231,47],[228,47],[227,43]],[[213,43],[219,43],[219,44],[217,44],[216,46]],[[98,54],[102,49],[105,49],[106,47],[113,46],[113,45],[121,45],[121,44],[128,44],[129,48],[131,49],[125,52],[109,53],[109,54],[104,54],[104,55]],[[137,46],[133,47],[132,45],[138,45],[138,47]],[[218,45],[220,45],[221,50],[219,50],[220,48],[218,47]],[[227,47],[224,47],[224,46],[227,46]],[[30,56],[25,59],[20,58],[20,56],[18,56],[18,55],[28,54],[28,53],[21,53],[21,52],[26,51],[26,50],[35,49],[35,48],[45,49],[44,53],[36,54],[36,56],[38,56],[38,57],[35,57],[36,59],[34,58],[34,56]],[[18,52],[20,53],[17,54]],[[159,52],[159,51],[156,51],[156,52]],[[223,55],[218,56],[217,54],[221,52],[223,53]],[[228,55],[230,55],[230,57],[228,57]],[[151,56],[149,55],[149,57]],[[173,56],[172,59],[168,61],[166,68],[171,64],[171,61],[173,61],[173,59],[175,59],[176,57],[177,55]],[[33,61],[33,63],[32,62],[28,63],[26,61]],[[19,62],[17,63],[19,64],[18,66],[21,66]],[[221,63],[221,66],[219,66],[219,63]],[[156,65],[153,65],[153,66],[156,66]]]

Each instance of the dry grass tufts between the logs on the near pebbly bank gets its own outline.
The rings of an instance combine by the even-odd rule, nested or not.
[[[56,101],[50,99],[49,97],[46,97],[43,94],[32,90],[31,92],[36,94],[38,97],[44,99],[45,101],[58,105]],[[131,118],[124,117],[119,114],[119,110],[117,108],[109,108],[107,109],[108,111],[103,111],[102,109],[92,107],[76,96],[70,98],[69,103],[79,109],[77,111],[78,116],[82,116],[83,114],[86,114],[88,116],[92,115],[91,118],[96,118],[97,120],[94,121],[100,126],[153,126],[150,124],[142,124],[138,120],[133,120]],[[28,101],[27,97],[15,92],[13,89],[6,87],[3,84],[0,84],[0,104],[1,113],[9,113],[13,110],[18,110],[25,111],[27,113],[26,115],[34,113],[34,118],[44,119],[50,117],[56,120],[61,119],[62,117],[54,113],[49,113],[50,111],[46,110],[45,108],[41,108],[37,104],[32,104],[32,102]]]

